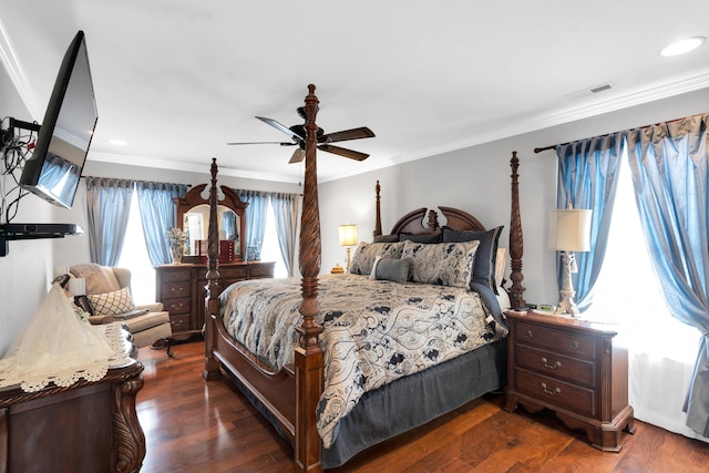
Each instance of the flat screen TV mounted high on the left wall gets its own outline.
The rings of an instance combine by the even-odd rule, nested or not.
[[[71,208],[97,120],[86,41],[79,31],[64,54],[20,186]]]

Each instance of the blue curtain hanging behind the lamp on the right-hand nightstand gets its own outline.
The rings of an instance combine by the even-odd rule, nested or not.
[[[590,251],[576,254],[578,273],[572,275],[579,311],[593,302],[593,289],[608,244],[613,203],[618,187],[618,166],[623,133],[598,136],[556,146],[558,185],[556,207],[593,209]],[[563,263],[557,255],[558,286],[563,284]]]

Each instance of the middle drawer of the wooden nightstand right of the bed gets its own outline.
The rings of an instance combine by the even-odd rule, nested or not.
[[[592,361],[578,360],[524,345],[517,345],[514,356],[517,367],[587,388],[595,385],[595,364]]]

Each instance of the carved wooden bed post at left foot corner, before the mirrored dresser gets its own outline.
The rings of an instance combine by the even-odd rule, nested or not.
[[[204,338],[204,371],[202,372],[202,377],[207,380],[214,380],[222,377],[222,372],[219,371],[219,362],[214,357],[212,349],[214,347],[214,337],[212,336],[213,331],[216,330],[214,327],[214,320],[212,315],[219,313],[219,226],[217,224],[217,158],[212,158],[212,186],[209,187],[209,233],[207,235],[207,296],[205,304],[207,306],[206,317],[205,317],[205,329],[207,333],[205,333]]]

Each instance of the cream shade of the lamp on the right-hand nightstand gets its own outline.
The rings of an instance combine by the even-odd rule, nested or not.
[[[588,251],[592,215],[593,210],[551,210],[548,247],[557,251]]]

